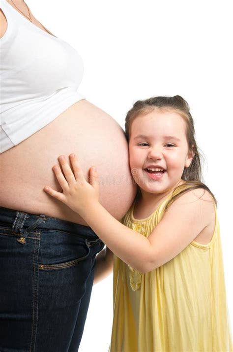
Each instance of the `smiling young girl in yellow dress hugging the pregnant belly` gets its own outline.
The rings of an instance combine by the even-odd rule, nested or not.
[[[233,351],[216,199],[201,182],[189,106],[180,96],[138,101],[126,116],[139,186],[118,222],[98,202],[74,154],[53,168],[63,193],[115,256],[112,352]],[[115,171],[113,170],[113,173]]]

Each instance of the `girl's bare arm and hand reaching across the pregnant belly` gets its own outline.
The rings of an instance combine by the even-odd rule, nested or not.
[[[149,272],[165,264],[190,244],[209,223],[206,213],[212,202],[199,198],[202,189],[189,191],[176,199],[148,238],[117,221],[98,201],[98,176],[90,169],[89,182],[74,154],[70,155],[73,172],[64,156],[62,167],[53,168],[63,193],[50,187],[44,190],[78,212],[120,259],[140,272]],[[211,198],[212,200],[212,198]]]

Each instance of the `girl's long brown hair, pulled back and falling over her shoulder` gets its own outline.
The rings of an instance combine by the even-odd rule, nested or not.
[[[127,141],[130,139],[130,127],[135,118],[139,115],[146,115],[148,112],[154,110],[155,108],[161,109],[163,111],[175,111],[183,118],[186,125],[185,133],[188,147],[189,150],[192,150],[194,153],[194,158],[190,166],[188,168],[184,168],[183,174],[181,176],[181,178],[186,181],[185,188],[172,196],[165,207],[165,211],[175,201],[176,198],[180,197],[183,193],[196,188],[204,188],[207,190],[217,205],[217,200],[215,199],[213,193],[203,183],[201,166],[201,157],[203,157],[203,155],[195,140],[194,121],[190,113],[189,105],[182,97],[179,95],[175,95],[174,97],[152,97],[146,100],[138,100],[136,103],[134,103],[133,107],[127,112],[125,118],[125,135]],[[179,191],[179,189],[182,189],[182,187],[183,185],[177,186],[174,189],[173,194],[176,193],[176,191]]]

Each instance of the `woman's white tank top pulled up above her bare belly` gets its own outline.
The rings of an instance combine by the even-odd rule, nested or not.
[[[31,23],[6,0],[0,38],[0,152],[19,144],[85,97],[83,62],[65,41]]]

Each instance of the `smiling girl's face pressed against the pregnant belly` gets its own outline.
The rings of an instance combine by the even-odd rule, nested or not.
[[[185,122],[177,112],[155,108],[132,122],[130,169],[142,193],[170,192],[180,182],[184,168],[189,167],[192,158],[185,136]],[[163,171],[157,171],[157,168]]]

